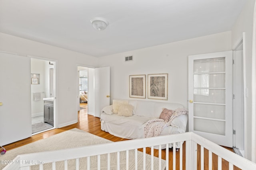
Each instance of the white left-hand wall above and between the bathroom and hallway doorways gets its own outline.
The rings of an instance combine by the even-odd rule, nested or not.
[[[96,67],[98,59],[82,53],[0,33],[0,51],[37,56],[56,61],[57,127],[77,122],[77,64]],[[22,65],[19,66],[22,68]],[[7,72],[8,70],[6,70]],[[22,89],[21,89],[22,90]]]

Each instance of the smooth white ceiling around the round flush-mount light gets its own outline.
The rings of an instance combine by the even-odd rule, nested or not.
[[[0,0],[0,32],[101,57],[230,31],[245,1]]]

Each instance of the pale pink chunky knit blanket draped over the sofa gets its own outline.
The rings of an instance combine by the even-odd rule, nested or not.
[[[178,108],[170,117],[169,121],[166,122],[164,119],[150,119],[144,127],[144,137],[159,136],[164,127],[170,126],[173,119],[179,115],[188,114],[188,109]]]

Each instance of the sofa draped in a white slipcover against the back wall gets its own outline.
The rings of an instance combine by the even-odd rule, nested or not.
[[[132,116],[126,117],[113,113],[113,105],[116,101],[128,102],[129,105],[133,106]],[[102,109],[100,115],[101,129],[114,136],[126,139],[144,138],[146,123],[150,119],[159,118],[163,108],[170,110],[184,108],[181,104],[176,103],[143,100],[113,100],[113,105]],[[173,119],[170,126],[164,127],[160,135],[184,133],[187,131],[187,123],[188,115],[180,115]],[[179,144],[176,147],[179,148]]]

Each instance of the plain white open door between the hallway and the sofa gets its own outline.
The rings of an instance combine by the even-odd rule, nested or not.
[[[110,105],[110,67],[95,68],[95,116]]]

